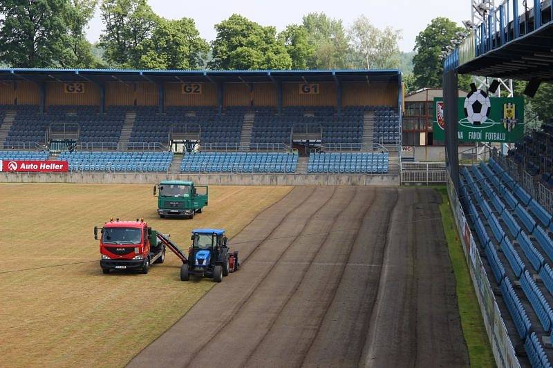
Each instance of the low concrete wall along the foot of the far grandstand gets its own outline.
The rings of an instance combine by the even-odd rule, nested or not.
[[[370,185],[398,186],[398,175],[236,175],[167,173],[0,173],[0,183],[156,184],[192,180],[209,185]]]

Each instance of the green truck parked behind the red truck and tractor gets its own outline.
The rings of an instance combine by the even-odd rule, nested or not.
[[[184,180],[167,180],[153,186],[158,194],[158,215],[194,218],[207,206],[207,185],[194,185]]]

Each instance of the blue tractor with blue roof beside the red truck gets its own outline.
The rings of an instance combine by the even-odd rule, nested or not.
[[[223,276],[238,270],[238,251],[229,250],[223,229],[194,229],[191,240],[188,259],[180,267],[180,280],[196,275],[221,282]]]

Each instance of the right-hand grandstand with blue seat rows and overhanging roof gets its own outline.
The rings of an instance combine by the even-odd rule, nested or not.
[[[449,122],[459,116],[458,74],[487,77],[490,95],[500,79],[527,81],[524,93],[530,97],[541,83],[553,81],[550,1],[534,1],[533,8],[519,1],[473,3],[474,19],[483,21],[465,22],[465,39],[444,55]],[[480,162],[471,165],[458,164],[459,125],[445,128],[449,195],[496,363],[551,367],[553,124],[525,129],[523,139],[488,142]]]

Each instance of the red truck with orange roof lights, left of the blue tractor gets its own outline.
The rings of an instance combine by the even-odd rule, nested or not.
[[[98,234],[94,227],[94,238],[100,235],[100,267],[104,273],[111,270],[128,269],[148,273],[153,263],[165,261],[165,244],[158,240],[143,220],[104,223]]]

